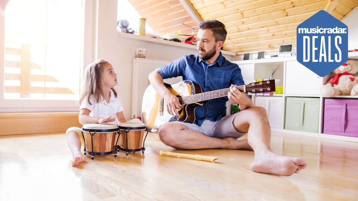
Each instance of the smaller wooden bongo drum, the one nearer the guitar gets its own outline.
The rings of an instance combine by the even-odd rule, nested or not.
[[[136,123],[136,122],[126,122],[119,124],[119,131],[122,135],[123,144],[121,145],[121,150],[126,151],[126,155],[128,152],[136,152],[141,151],[144,153],[144,141],[143,140],[144,131],[147,130],[144,123]]]

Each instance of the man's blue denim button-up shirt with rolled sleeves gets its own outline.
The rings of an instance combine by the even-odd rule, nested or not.
[[[218,60],[209,65],[196,55],[184,55],[154,70],[163,79],[182,76],[183,80],[190,80],[199,84],[203,92],[229,88],[231,84],[244,85],[241,69],[237,64],[227,61],[222,54]],[[226,116],[226,102],[228,97],[215,98],[204,102],[203,106],[195,109],[195,124],[201,126],[205,119],[219,121]]]

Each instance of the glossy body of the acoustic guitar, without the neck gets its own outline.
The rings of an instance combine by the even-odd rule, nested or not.
[[[173,85],[164,83],[164,85],[179,98],[180,103],[182,103],[182,97],[202,93],[201,87],[189,80],[184,80]],[[173,117],[166,111],[163,97],[156,92],[152,85],[149,85],[143,95],[142,122],[146,124],[148,131],[151,133],[157,132],[159,127],[165,122],[181,121],[194,123],[194,110],[202,105],[203,102],[182,104],[182,107],[177,109],[179,116]]]

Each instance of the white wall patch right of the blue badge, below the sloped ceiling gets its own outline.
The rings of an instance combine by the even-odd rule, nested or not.
[[[348,50],[358,49],[358,9],[355,9],[342,22],[348,26]]]

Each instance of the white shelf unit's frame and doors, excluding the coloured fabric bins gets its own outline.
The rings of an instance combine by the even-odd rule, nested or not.
[[[358,59],[358,52],[348,53],[348,59]],[[300,135],[311,136],[311,137],[321,137],[321,138],[330,138],[330,139],[358,142],[358,137],[339,136],[339,135],[323,133],[324,98],[320,95],[320,88],[333,75],[327,75],[323,78],[319,77],[318,75],[311,72],[309,69],[307,69],[300,63],[298,63],[296,56],[281,57],[281,58],[276,57],[270,59],[240,60],[240,61],[233,61],[233,63],[238,64],[239,67],[241,68],[242,76],[246,84],[253,82],[253,79],[262,79],[262,78],[267,79],[269,77],[272,77],[272,79],[281,79],[280,85],[284,86],[283,94],[274,94],[273,96],[269,96],[269,94],[267,95],[265,94],[265,97],[267,97],[267,99],[271,97],[282,98],[282,107],[280,111],[281,126],[280,128],[277,127],[271,128],[272,131],[290,133],[290,134],[300,134]],[[273,72],[275,70],[277,65],[279,65],[279,68],[282,69],[280,69],[279,72],[276,71],[275,74],[270,74],[270,72]],[[287,69],[289,69],[288,72]],[[355,74],[355,76],[358,76],[357,74]],[[257,98],[260,97],[262,97],[262,94],[258,94]],[[317,133],[285,129],[286,97],[319,98],[320,108],[319,108],[319,122],[318,122]],[[256,105],[255,102],[257,98],[255,98],[255,96],[252,95],[252,100],[254,105]],[[339,95],[335,98],[358,99],[358,96]],[[267,103],[266,103],[266,107],[268,107]]]

